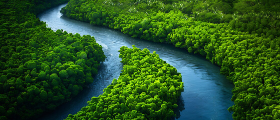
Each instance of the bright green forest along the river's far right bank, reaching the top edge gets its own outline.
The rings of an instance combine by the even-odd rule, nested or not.
[[[221,66],[234,119],[280,118],[279,0],[70,0],[66,16],[174,44]]]

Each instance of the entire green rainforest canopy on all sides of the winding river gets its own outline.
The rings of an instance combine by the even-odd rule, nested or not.
[[[169,44],[220,66],[234,84],[234,104],[226,108],[233,119],[280,118],[278,0],[2,0],[1,120],[36,119],[95,80],[106,59],[95,37],[54,31],[37,17],[66,2],[60,11],[66,17]],[[181,73],[155,51],[136,46],[119,48],[119,77],[65,119],[179,117],[186,86]]]

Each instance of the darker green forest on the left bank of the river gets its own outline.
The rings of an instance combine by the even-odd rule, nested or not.
[[[55,109],[91,83],[105,60],[94,37],[55,32],[36,18],[64,2],[1,0],[1,120],[34,118]]]

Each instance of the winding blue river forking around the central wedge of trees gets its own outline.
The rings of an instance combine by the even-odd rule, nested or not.
[[[121,46],[148,48],[156,51],[160,58],[177,68],[182,74],[184,91],[175,119],[232,119],[227,108],[234,103],[230,100],[233,84],[220,74],[220,67],[212,64],[204,57],[191,54],[186,50],[175,48],[170,44],[155,43],[143,39],[132,38],[119,31],[89,23],[70,19],[60,13],[66,4],[53,7],[39,14],[53,30],[63,29],[68,33],[90,34],[103,46],[106,61],[101,63],[94,82],[85,88],[71,101],[62,104],[54,111],[43,114],[39,119],[65,119],[68,114],[75,114],[87,105],[92,96],[99,96],[103,89],[111,84],[113,78],[118,78],[122,63],[119,55]]]

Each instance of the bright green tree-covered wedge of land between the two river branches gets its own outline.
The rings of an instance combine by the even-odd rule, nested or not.
[[[124,66],[118,79],[92,97],[77,114],[67,119],[170,119],[184,90],[182,76],[158,54],[122,46]]]

